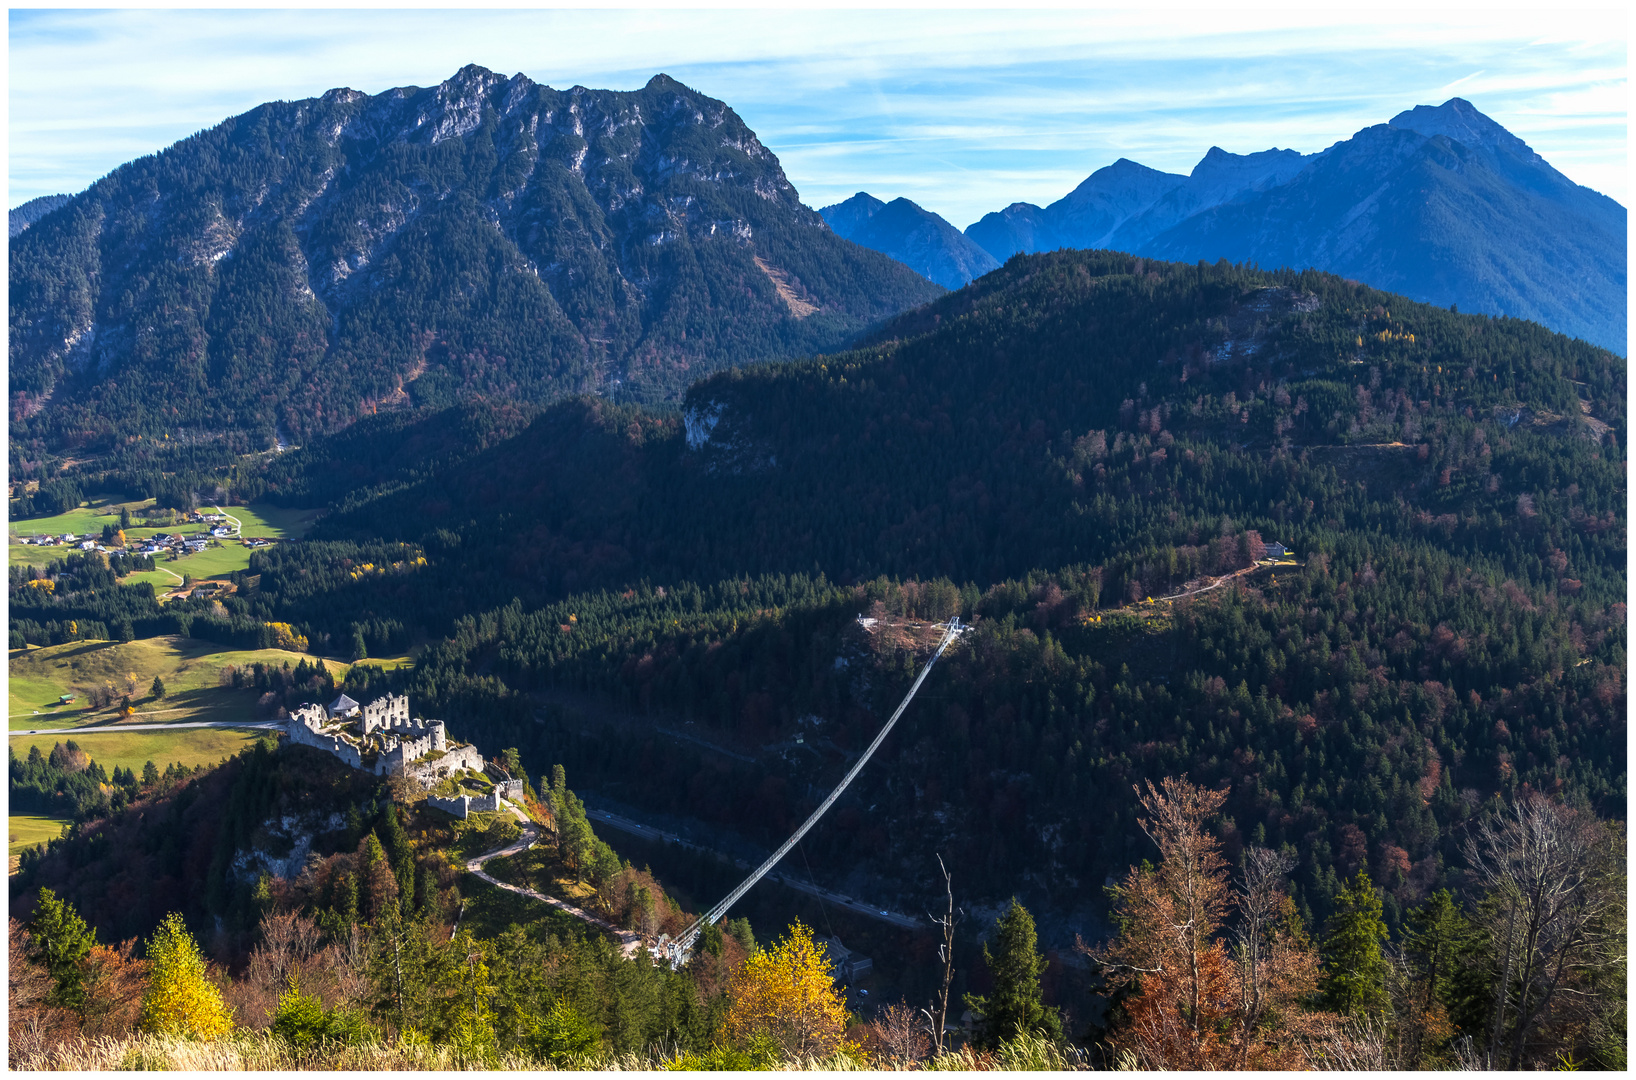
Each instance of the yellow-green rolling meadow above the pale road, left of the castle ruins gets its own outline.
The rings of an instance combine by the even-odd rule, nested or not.
[[[133,723],[173,723],[182,720],[245,722],[254,718],[255,691],[236,691],[222,686],[222,669],[227,664],[244,668],[254,663],[296,666],[314,656],[286,650],[229,650],[214,641],[196,638],[160,637],[139,641],[69,641],[47,648],[13,650],[8,664],[7,713],[10,728],[44,730],[69,728],[85,723],[110,723],[115,709],[92,712],[85,691],[95,686],[115,686],[121,692],[134,686],[131,702],[137,713]],[[363,661],[380,668],[396,668],[411,663],[407,656],[396,659]],[[335,681],[347,677],[352,664],[324,659]],[[154,676],[165,682],[165,697],[152,700],[149,689]],[[57,707],[62,694],[79,694],[72,705]]]

